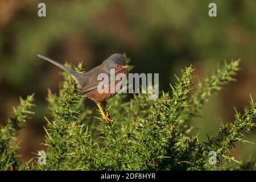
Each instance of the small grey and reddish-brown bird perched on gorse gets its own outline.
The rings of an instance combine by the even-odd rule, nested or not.
[[[77,86],[79,88],[79,92],[77,94],[84,95],[85,97],[88,97],[90,100],[94,101],[100,109],[102,118],[105,119],[106,122],[113,121],[108,117],[108,113],[104,113],[104,110],[102,109],[101,105],[102,103],[106,102],[109,98],[112,98],[113,96],[115,96],[115,94],[118,93],[118,90],[112,90],[112,92],[110,92],[110,88],[115,88],[115,85],[118,82],[125,81],[128,74],[128,68],[133,67],[131,65],[127,65],[125,56],[123,56],[121,53],[114,53],[113,55],[108,57],[108,59],[104,60],[100,65],[93,69],[90,69],[90,71],[85,73],[79,73],[74,71],[73,69],[69,69],[65,67],[63,64],[60,64],[57,61],[50,59],[49,57],[43,55],[37,56],[46,61],[49,61],[50,63],[68,72],[77,83]],[[111,81],[111,69],[114,70],[115,76],[118,73],[125,74],[125,79],[122,78],[119,81]],[[109,77],[109,80],[107,80],[106,84],[104,85],[104,89],[109,89],[109,92],[98,92],[98,85],[102,81],[97,79],[100,73],[106,73],[106,75],[108,75]]]

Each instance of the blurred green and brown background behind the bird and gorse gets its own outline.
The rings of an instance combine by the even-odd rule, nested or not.
[[[45,18],[38,3],[46,3]],[[217,17],[208,16],[210,2]],[[133,72],[159,73],[160,90],[170,90],[174,73],[193,64],[197,79],[211,74],[217,63],[241,58],[237,82],[225,86],[204,106],[202,118],[193,121],[193,134],[201,140],[220,124],[232,122],[235,106],[242,111],[249,94],[256,100],[256,1],[0,1],[0,121],[3,124],[18,104],[18,97],[36,93],[36,115],[19,135],[20,154],[28,160],[40,145],[48,115],[47,88],[56,92],[63,79],[60,69],[39,59],[40,53],[85,70],[112,53],[126,52]],[[89,100],[86,104],[96,106]],[[92,114],[96,115],[95,113]],[[255,130],[247,139],[256,143]],[[256,146],[238,145],[236,159],[256,158]]]

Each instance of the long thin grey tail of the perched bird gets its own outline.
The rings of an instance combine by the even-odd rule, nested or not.
[[[43,55],[38,55],[38,57],[40,57],[40,58],[42,58],[44,60],[47,60],[50,63],[55,64],[57,67],[63,69],[66,72],[68,72],[76,80],[77,84],[79,86],[82,86],[82,80],[81,79],[82,79],[82,76],[84,74],[76,72],[76,71],[73,71],[72,69],[69,69],[69,68],[65,67],[63,64],[60,64],[60,63],[58,63],[58,62],[56,62],[56,61],[54,61],[52,59],[49,59],[49,57],[46,57],[46,56],[43,56]]]

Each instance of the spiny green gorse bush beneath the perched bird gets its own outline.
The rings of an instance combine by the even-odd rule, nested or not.
[[[216,135],[200,142],[191,136],[191,120],[200,117],[208,98],[223,85],[234,80],[239,61],[225,63],[212,76],[196,86],[192,84],[192,67],[182,71],[171,93],[162,93],[156,100],[148,100],[147,94],[135,94],[126,102],[125,94],[117,94],[109,100],[108,110],[113,122],[92,117],[92,110],[84,106],[84,97],[77,95],[76,82],[64,73],[59,93],[48,90],[48,109],[44,127],[47,146],[46,164],[31,159],[19,163],[16,154],[18,144],[13,139],[20,122],[26,121],[33,96],[20,100],[14,109],[14,117],[1,127],[0,168],[38,170],[211,170],[255,169],[255,162],[238,162],[229,154],[238,142],[247,142],[245,133],[255,127],[256,103],[250,98],[250,106],[243,113],[236,111],[234,122],[221,124]],[[77,71],[82,72],[79,64]],[[193,88],[193,90],[191,90]],[[93,122],[92,122],[93,121]],[[100,123],[95,125],[95,123]],[[209,152],[216,152],[216,164],[210,164]]]

